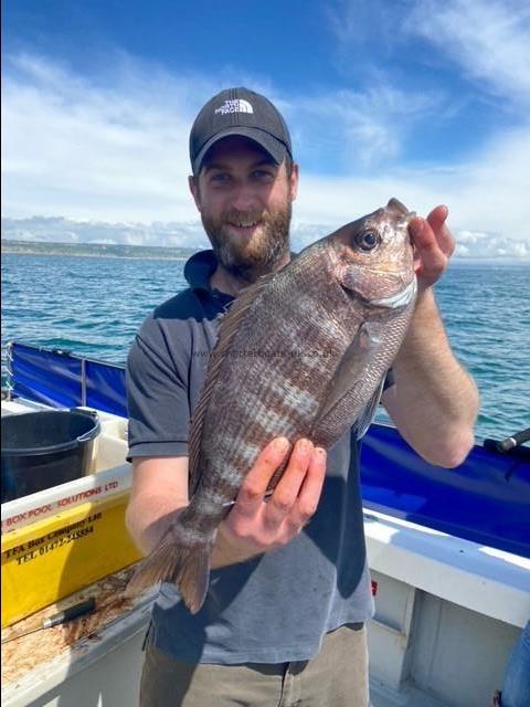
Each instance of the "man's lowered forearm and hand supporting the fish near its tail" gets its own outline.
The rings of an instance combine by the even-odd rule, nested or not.
[[[221,523],[212,567],[244,561],[289,542],[317,509],[326,475],[326,453],[299,440],[274,493],[268,483],[285,458],[288,443],[278,437],[259,454],[246,475],[232,510]],[[188,457],[150,457],[134,462],[126,524],[148,555],[188,505]]]

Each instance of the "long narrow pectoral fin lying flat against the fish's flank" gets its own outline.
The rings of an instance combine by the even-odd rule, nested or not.
[[[335,408],[362,382],[365,371],[381,344],[382,325],[364,321],[343,355],[318,413],[318,426]]]

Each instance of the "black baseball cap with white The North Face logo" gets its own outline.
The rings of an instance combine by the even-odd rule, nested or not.
[[[226,88],[201,109],[190,133],[190,160],[194,175],[218,140],[229,135],[248,137],[266,150],[277,165],[286,152],[293,157],[284,118],[265,96],[248,88]]]

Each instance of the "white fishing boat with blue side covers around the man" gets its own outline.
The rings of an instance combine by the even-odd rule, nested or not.
[[[119,476],[117,490],[127,494],[124,369],[21,342],[8,345],[7,359],[2,414],[95,411],[104,436],[107,430],[115,444],[110,468],[94,474],[114,474],[114,481]],[[530,618],[530,450],[523,443],[528,433],[487,440],[460,466],[443,469],[418,457],[391,425],[372,423],[369,429],[362,442],[361,478],[377,606],[368,625],[373,707],[487,707],[500,688],[509,653]],[[20,509],[41,503],[50,506],[53,517],[53,499],[71,497],[83,484],[85,489],[94,487],[93,479],[88,475],[2,503],[2,539],[34,526],[19,518],[19,530],[14,521],[13,528],[4,528],[13,514],[22,516]],[[123,564],[60,601],[72,603],[87,592],[108,591],[116,599],[131,571],[127,559]],[[141,644],[155,595],[155,590],[146,592],[121,611],[99,616],[97,625],[80,620],[87,622],[85,630],[72,634],[75,640],[70,643],[63,641],[59,655],[55,634],[34,634],[42,659],[35,662],[33,655],[26,669],[3,680],[4,704],[137,704]],[[8,631],[28,625],[34,616]],[[26,654],[28,644],[20,645]]]

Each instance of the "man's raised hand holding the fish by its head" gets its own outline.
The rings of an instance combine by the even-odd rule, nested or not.
[[[409,224],[420,292],[439,279],[455,250],[455,239],[445,223],[447,214],[447,207],[436,207],[426,219],[415,217]]]

